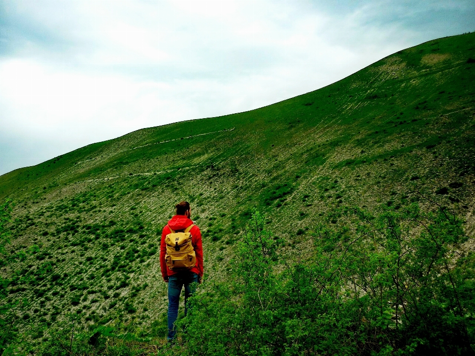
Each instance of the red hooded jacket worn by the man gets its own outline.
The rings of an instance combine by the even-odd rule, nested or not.
[[[163,227],[162,241],[160,243],[160,268],[162,270],[162,276],[164,280],[168,280],[168,277],[178,273],[168,268],[165,263],[165,254],[167,252],[167,244],[165,243],[165,237],[171,232],[170,226],[174,231],[186,229],[193,222],[185,215],[175,215],[168,221],[168,224]],[[193,245],[194,252],[196,254],[196,265],[190,269],[191,272],[195,272],[199,278],[203,276],[203,247],[201,245],[201,231],[199,227],[194,225],[191,227],[191,245]]]

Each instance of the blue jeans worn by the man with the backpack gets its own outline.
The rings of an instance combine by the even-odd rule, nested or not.
[[[177,332],[175,321],[178,317],[178,304],[182,288],[185,285],[185,316],[187,316],[187,300],[196,290],[197,282],[198,275],[190,271],[178,272],[168,278],[168,341],[172,341]]]

